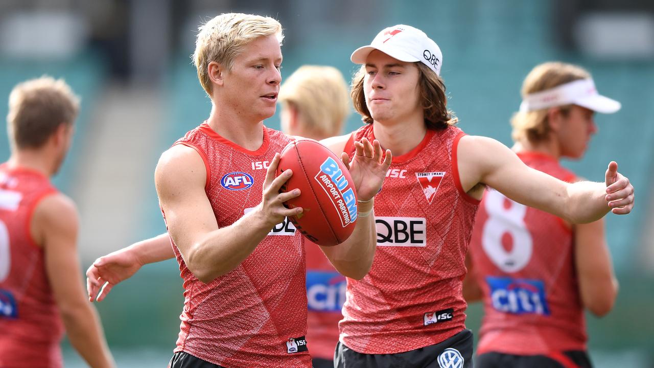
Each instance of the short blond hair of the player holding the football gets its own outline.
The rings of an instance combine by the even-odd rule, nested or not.
[[[209,96],[213,90],[207,70],[209,63],[216,62],[231,70],[234,58],[241,53],[243,46],[254,39],[276,35],[280,44],[284,39],[282,26],[277,20],[253,14],[220,14],[198,30],[196,51],[192,58],[198,69],[200,84]]]

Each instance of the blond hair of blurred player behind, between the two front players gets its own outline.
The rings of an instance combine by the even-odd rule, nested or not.
[[[279,101],[297,109],[304,128],[316,136],[339,134],[350,113],[347,83],[341,72],[330,66],[300,67],[282,84]]]

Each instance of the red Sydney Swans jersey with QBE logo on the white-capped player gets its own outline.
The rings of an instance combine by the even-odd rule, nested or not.
[[[478,200],[464,193],[455,126],[428,130],[394,156],[375,196],[377,252],[360,281],[347,279],[340,340],[356,352],[394,354],[437,344],[464,329],[462,280]],[[374,139],[368,124],[353,139]],[[345,148],[354,153],[353,139]]]

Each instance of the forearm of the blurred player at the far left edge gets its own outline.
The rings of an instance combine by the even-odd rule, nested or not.
[[[71,345],[90,367],[115,367],[93,306],[80,304],[71,310],[61,310],[61,319]]]

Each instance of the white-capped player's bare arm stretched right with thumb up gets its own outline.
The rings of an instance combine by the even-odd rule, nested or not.
[[[610,210],[626,214],[634,206],[634,187],[611,162],[605,183],[566,183],[526,166],[508,147],[485,137],[464,136],[458,146],[463,189],[489,185],[525,206],[553,213],[571,223],[589,223]]]

